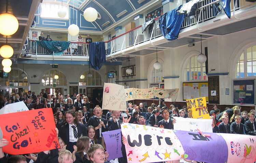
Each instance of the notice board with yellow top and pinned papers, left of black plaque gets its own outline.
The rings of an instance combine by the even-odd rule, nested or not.
[[[186,99],[206,97],[208,101],[208,82],[183,82],[183,101]]]

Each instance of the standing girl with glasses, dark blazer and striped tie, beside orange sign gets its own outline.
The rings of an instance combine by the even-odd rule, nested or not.
[[[73,110],[65,112],[65,121],[59,130],[59,137],[67,145],[69,151],[73,152],[73,146],[76,145],[77,139],[82,136],[88,136],[86,126],[80,124]]]

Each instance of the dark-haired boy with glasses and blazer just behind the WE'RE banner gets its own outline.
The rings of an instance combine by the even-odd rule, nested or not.
[[[163,120],[158,122],[158,127],[166,128],[166,129],[173,129],[173,124],[176,122],[175,119],[172,119],[169,116],[169,110],[167,108],[163,108],[161,110],[161,114],[163,116]]]

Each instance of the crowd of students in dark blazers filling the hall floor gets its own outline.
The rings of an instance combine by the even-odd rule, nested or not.
[[[28,97],[24,98],[23,95],[15,96],[19,101],[28,104],[28,101],[33,101],[34,95],[29,92]],[[20,98],[23,96],[23,98]],[[42,99],[44,97],[44,99]],[[5,97],[4,97],[5,98]],[[42,102],[42,103],[41,103]],[[42,105],[40,105],[42,104]],[[56,132],[59,135],[60,148],[51,151],[43,151],[40,153],[33,153],[24,156],[6,156],[2,152],[2,147],[7,145],[8,142],[4,139],[0,140],[0,163],[14,162],[12,159],[20,160],[17,163],[26,162],[40,162],[40,163],[104,163],[108,161],[109,153],[106,152],[102,132],[111,131],[121,128],[124,123],[136,123],[140,125],[148,125],[153,127],[173,129],[173,124],[176,122],[175,117],[189,116],[186,106],[170,105],[168,108],[163,101],[160,105],[152,104],[147,109],[143,103],[139,106],[129,103],[126,111],[120,112],[118,110],[109,110],[106,115],[103,115],[102,109],[96,106],[93,110],[93,116],[88,112],[90,103],[88,97],[74,94],[72,97],[69,95],[66,99],[62,95],[57,98],[46,92],[40,93],[37,96],[35,103],[31,109],[39,109],[51,107],[53,109]],[[217,105],[209,112],[213,120],[213,132],[220,133],[235,133],[235,134],[250,134],[256,135],[255,127],[255,110],[250,113],[242,111],[241,107],[234,106],[233,108],[226,108],[225,111],[220,113]],[[120,116],[122,113],[123,116]],[[145,116],[142,116],[143,115]],[[248,115],[248,116],[247,116]],[[245,131],[245,132],[244,132]],[[126,139],[122,137],[122,158],[110,160],[111,163],[126,163],[126,151],[124,144],[127,143]],[[35,155],[38,155],[35,157]],[[197,162],[193,160],[186,160],[188,162]],[[178,163],[180,160],[167,161],[167,163]],[[23,162],[22,162],[23,163]],[[24,162],[25,163],[25,162]]]

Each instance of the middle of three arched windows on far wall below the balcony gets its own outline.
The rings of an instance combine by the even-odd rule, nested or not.
[[[42,86],[67,86],[67,77],[59,70],[50,70],[42,77]]]

